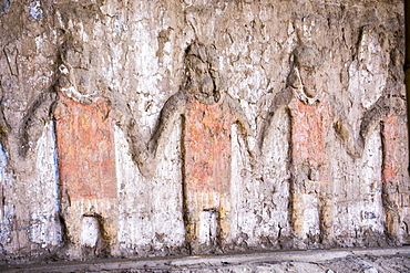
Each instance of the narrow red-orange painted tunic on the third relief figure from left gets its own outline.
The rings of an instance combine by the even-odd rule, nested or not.
[[[328,181],[328,156],[325,139],[331,129],[332,109],[326,101],[318,106],[306,105],[299,99],[290,103],[291,143],[295,165],[307,165],[319,171],[320,181]]]

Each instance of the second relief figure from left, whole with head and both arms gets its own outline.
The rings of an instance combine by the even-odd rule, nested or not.
[[[171,96],[150,141],[150,153],[165,141],[182,116],[183,189],[186,241],[192,251],[227,243],[230,225],[232,126],[249,126],[239,105],[219,90],[215,49],[191,44],[185,52],[185,78]]]

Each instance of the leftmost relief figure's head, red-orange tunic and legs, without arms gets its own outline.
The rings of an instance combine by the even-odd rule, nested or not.
[[[113,122],[78,52],[65,44],[55,85],[61,212],[72,246],[104,255],[115,245],[117,225]]]

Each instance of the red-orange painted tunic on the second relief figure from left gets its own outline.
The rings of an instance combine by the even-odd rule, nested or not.
[[[184,132],[186,190],[229,191],[232,125],[233,116],[224,113],[221,102],[188,102]]]

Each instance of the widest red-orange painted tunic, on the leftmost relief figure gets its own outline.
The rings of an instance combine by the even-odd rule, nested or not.
[[[92,105],[63,94],[55,109],[55,132],[62,192],[71,199],[115,198],[112,120],[104,99]]]

